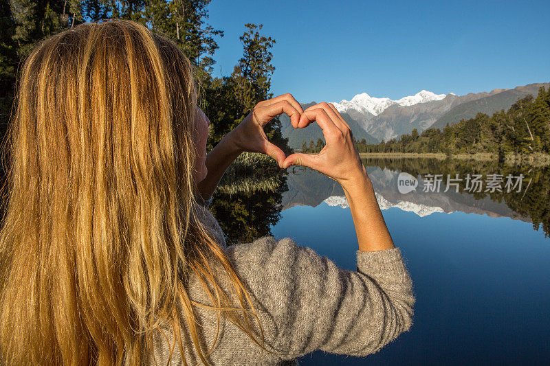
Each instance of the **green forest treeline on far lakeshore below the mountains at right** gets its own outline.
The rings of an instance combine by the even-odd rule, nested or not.
[[[322,142],[322,141],[321,141]],[[478,113],[470,119],[447,125],[443,130],[428,128],[418,133],[379,144],[355,141],[359,152],[442,152],[444,154],[474,154],[487,152],[505,157],[509,153],[528,155],[550,153],[550,88],[541,87],[533,95],[518,100],[508,111],[489,116]],[[305,152],[318,152],[322,146],[314,141],[303,143]]]

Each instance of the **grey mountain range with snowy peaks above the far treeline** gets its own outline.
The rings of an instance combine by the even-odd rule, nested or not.
[[[428,128],[443,128],[461,119],[474,117],[477,113],[492,115],[508,109],[520,98],[536,96],[540,87],[550,87],[550,82],[527,84],[514,89],[494,89],[490,92],[435,94],[422,90],[399,100],[375,98],[367,93],[355,95],[351,100],[332,102],[349,124],[355,139],[365,139],[369,144],[388,141],[410,133],[414,128],[421,133]],[[307,108],[316,104],[302,104]],[[303,141],[317,141],[322,130],[317,124],[296,129],[287,115],[281,116],[283,136],[289,139],[292,148],[299,149]]]

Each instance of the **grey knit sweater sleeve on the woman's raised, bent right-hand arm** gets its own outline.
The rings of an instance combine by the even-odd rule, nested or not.
[[[266,343],[292,359],[315,350],[366,356],[408,330],[415,298],[398,248],[357,251],[357,271],[271,236],[228,250],[268,319]]]

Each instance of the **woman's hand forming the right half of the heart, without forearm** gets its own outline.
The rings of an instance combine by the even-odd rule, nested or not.
[[[357,179],[365,179],[366,171],[353,144],[351,129],[336,108],[326,102],[310,106],[302,113],[295,127],[305,128],[314,121],[325,135],[325,147],[317,155],[289,155],[283,162],[283,168],[289,165],[305,165],[329,176],[344,187]]]

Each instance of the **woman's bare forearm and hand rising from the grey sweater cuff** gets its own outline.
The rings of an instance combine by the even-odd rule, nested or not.
[[[360,251],[394,248],[393,240],[376,201],[373,185],[366,174],[347,122],[329,103],[307,108],[300,116],[298,128],[317,122],[326,145],[318,155],[289,155],[283,167],[305,165],[329,176],[342,185],[349,203]]]

